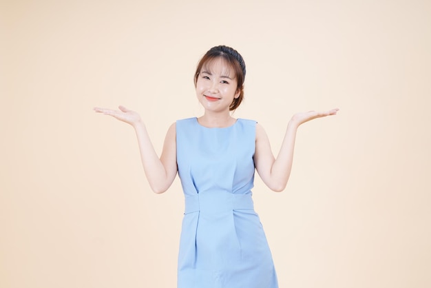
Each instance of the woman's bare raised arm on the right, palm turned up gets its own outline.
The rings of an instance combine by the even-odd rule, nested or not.
[[[295,114],[287,125],[286,134],[277,158],[273,156],[265,130],[261,125],[256,125],[255,167],[260,178],[269,189],[281,192],[287,185],[288,178],[291,175],[293,150],[299,125],[313,119],[335,115],[337,111],[338,109],[333,109],[327,112],[311,111]]]

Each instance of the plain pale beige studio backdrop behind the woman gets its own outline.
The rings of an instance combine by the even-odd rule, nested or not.
[[[430,1],[3,0],[0,27],[0,287],[176,286],[180,183],[153,194],[92,107],[160,151],[218,44],[275,153],[294,112],[341,109],[300,128],[285,192],[256,177],[280,287],[431,287]]]

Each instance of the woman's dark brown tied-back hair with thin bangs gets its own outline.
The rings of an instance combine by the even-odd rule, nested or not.
[[[240,55],[240,53],[238,53],[238,51],[224,45],[215,46],[208,50],[208,52],[204,54],[202,59],[200,59],[198,66],[196,67],[194,79],[195,86],[198,82],[198,76],[200,70],[202,70],[202,67],[218,58],[224,59],[224,61],[231,65],[231,68],[233,69],[233,72],[235,74],[235,79],[238,83],[237,91],[240,90],[240,96],[238,96],[238,98],[236,99],[233,99],[231,105],[229,106],[229,110],[232,111],[238,108],[238,106],[240,106],[240,103],[242,102],[242,99],[244,99],[244,79],[246,70],[244,59],[242,59],[242,56]]]

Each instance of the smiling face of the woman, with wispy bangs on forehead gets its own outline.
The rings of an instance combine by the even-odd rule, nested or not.
[[[233,69],[222,58],[202,66],[196,81],[196,95],[205,110],[228,111],[233,99],[240,96]]]

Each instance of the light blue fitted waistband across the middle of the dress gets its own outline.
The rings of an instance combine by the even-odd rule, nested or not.
[[[251,194],[202,192],[185,196],[185,214],[198,211],[214,214],[231,212],[234,209],[254,209]]]

